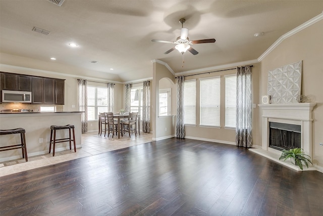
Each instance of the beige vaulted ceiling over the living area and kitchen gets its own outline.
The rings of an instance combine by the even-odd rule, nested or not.
[[[283,34],[323,11],[323,1],[75,1],[0,0],[0,51],[52,64],[103,72],[128,82],[152,77],[151,60],[175,73],[257,59]],[[185,18],[197,55],[165,55]],[[38,27],[48,35],[33,31]],[[264,32],[255,37],[257,32]],[[78,47],[71,48],[75,42]],[[90,61],[97,61],[91,63]],[[114,70],[110,70],[113,68]],[[91,76],[91,74],[88,74]]]

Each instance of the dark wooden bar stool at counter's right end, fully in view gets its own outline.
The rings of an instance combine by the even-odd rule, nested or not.
[[[58,129],[69,129],[69,137],[68,138],[62,138],[62,139],[56,139],[56,130]],[[73,140],[71,139],[71,129],[73,130]],[[52,138],[52,132],[54,132],[54,137]],[[74,133],[74,125],[68,124],[65,126],[57,126],[57,125],[51,125],[50,126],[50,141],[49,141],[49,152],[51,150],[51,144],[52,144],[52,156],[55,155],[55,144],[56,143],[63,143],[63,142],[70,142],[70,150],[72,149],[72,142],[74,143],[74,152],[76,152],[76,145],[75,145],[75,133]]]

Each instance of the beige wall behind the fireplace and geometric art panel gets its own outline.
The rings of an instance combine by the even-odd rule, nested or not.
[[[297,61],[303,61],[303,95],[310,96],[317,105],[313,110],[312,156],[314,164],[323,167],[323,20],[283,40],[261,61],[259,98],[267,92],[268,70]],[[256,126],[261,129],[261,111],[256,115]]]

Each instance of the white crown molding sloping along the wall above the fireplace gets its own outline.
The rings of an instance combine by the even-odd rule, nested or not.
[[[307,28],[308,26],[313,25],[314,23],[323,19],[323,13],[317,15],[316,17],[304,22],[303,24],[299,25],[298,27],[294,28],[293,30],[283,34],[274,42],[272,46],[270,46],[261,56],[258,58],[258,62],[262,61],[264,57],[266,57],[270,52],[272,52],[284,39],[296,34],[297,32]]]

